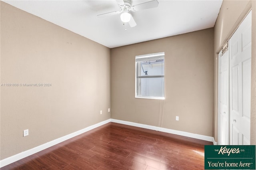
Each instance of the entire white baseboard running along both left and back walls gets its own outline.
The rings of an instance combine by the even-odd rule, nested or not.
[[[108,119],[106,121],[102,121],[102,122],[97,123],[95,125],[92,125],[90,127],[86,127],[82,130],[78,130],[76,132],[68,134],[66,136],[62,136],[58,139],[52,140],[52,141],[47,142],[45,144],[42,144],[40,146],[36,146],[35,148],[26,150],[24,152],[20,152],[16,155],[13,155],[13,156],[10,156],[10,157],[5,158],[3,160],[0,160],[0,168],[6,166],[8,164],[11,164],[13,162],[16,162],[16,161],[18,161],[22,158],[25,158],[27,156],[30,156],[30,155],[35,154],[37,152],[40,152],[41,150],[44,150],[44,149],[49,148],[51,146],[54,146],[54,145],[56,145],[60,142],[63,142],[65,140],[68,140],[70,138],[78,136],[79,134],[82,134],[82,133],[87,132],[89,130],[92,130],[94,128],[105,125],[106,123],[109,123],[109,122],[120,123],[120,124],[130,125],[130,126],[134,126],[134,127],[141,127],[141,128],[156,130],[156,131],[160,131],[160,132],[171,133],[171,134],[178,134],[178,135],[186,136],[186,137],[190,137],[190,138],[196,138],[196,139],[210,141],[210,142],[213,142],[214,145],[217,144],[217,142],[215,142],[214,138],[211,137],[211,136],[204,136],[204,135],[201,135],[201,134],[194,134],[194,133],[190,133],[190,132],[183,132],[183,131],[179,131],[179,130],[172,130],[172,129],[168,129],[168,128],[155,127],[155,126],[151,126],[151,125],[144,125],[144,124],[133,123],[133,122],[128,122],[128,121],[120,121],[120,120],[116,120],[116,119]]]

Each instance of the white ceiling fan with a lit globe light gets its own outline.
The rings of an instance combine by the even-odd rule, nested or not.
[[[132,15],[129,13],[130,11],[135,12],[138,10],[145,10],[148,8],[158,7],[157,0],[151,0],[151,1],[137,4],[134,6],[132,6],[132,0],[116,0],[116,1],[120,7],[120,11],[108,12],[105,14],[99,14],[97,16],[102,17],[102,16],[111,16],[111,15],[115,15],[115,14],[121,14],[120,18],[121,18],[122,22],[128,22],[130,27],[135,27],[137,24],[136,24],[134,18],[132,17]]]

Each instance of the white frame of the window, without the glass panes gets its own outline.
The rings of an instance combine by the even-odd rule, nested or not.
[[[141,68],[138,68],[138,62],[139,61],[150,61],[154,59],[164,59],[164,52],[160,53],[152,53],[152,54],[146,54],[146,55],[136,55],[135,57],[135,98],[142,98],[142,99],[165,99],[165,93],[164,97],[157,97],[157,96],[141,96],[141,88],[140,87],[140,80],[138,81],[138,78],[154,78],[154,77],[164,77],[163,75],[141,75]],[[164,92],[165,92],[165,83],[164,83]]]

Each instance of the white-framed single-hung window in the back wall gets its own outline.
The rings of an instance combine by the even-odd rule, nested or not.
[[[136,56],[135,97],[164,99],[164,52]]]

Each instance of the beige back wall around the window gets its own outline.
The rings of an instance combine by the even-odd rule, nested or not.
[[[213,37],[210,28],[111,49],[111,118],[212,136]],[[135,56],[157,52],[166,99],[137,99]]]

